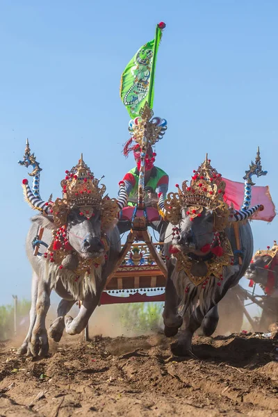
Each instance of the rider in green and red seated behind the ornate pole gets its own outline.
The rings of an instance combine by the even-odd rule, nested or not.
[[[122,181],[125,183],[126,193],[129,195],[129,206],[136,206],[138,198],[138,182],[139,182],[139,171],[140,171],[140,154],[141,149],[140,145],[135,145],[131,149],[124,149],[124,156],[127,156],[133,150],[134,159],[136,161],[136,167],[133,167],[132,170],[127,172],[124,175]],[[151,146],[147,148],[146,158],[145,158],[145,193],[147,194],[147,199],[151,202],[151,205],[157,206],[158,195],[163,193],[166,195],[168,190],[169,177],[165,171],[161,170],[154,165],[156,153],[153,152]],[[156,194],[157,193],[157,194]],[[149,204],[148,204],[149,205]],[[129,231],[131,229],[131,222],[127,220],[120,220],[117,224],[120,233],[124,231]],[[163,242],[165,236],[165,230],[167,224],[164,221],[152,222],[151,226],[159,231],[160,241]]]

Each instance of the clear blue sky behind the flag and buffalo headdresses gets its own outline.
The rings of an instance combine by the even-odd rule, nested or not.
[[[17,165],[26,138],[45,199],[60,197],[60,180],[81,152],[115,196],[133,167],[121,154],[129,115],[120,76],[161,20],[154,111],[168,130],[156,163],[170,190],[206,152],[224,177],[242,181],[260,145],[268,175],[256,183],[268,184],[277,204],[277,13],[275,0],[1,1],[0,304],[31,291],[24,240],[33,212],[22,195],[26,169]],[[256,248],[278,238],[277,218],[252,227]]]

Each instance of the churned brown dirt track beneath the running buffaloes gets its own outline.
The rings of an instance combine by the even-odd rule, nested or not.
[[[197,336],[194,344],[195,357],[179,359],[162,335],[75,338],[32,361],[1,343],[0,416],[278,416],[274,341]]]

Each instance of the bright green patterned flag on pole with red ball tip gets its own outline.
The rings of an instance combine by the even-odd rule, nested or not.
[[[163,22],[156,25],[154,39],[136,52],[122,73],[120,96],[133,119],[139,115],[140,108],[144,106],[146,101],[152,108],[156,55],[164,27]]]

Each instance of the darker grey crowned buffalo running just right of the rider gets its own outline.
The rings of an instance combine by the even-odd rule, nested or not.
[[[236,286],[252,259],[253,238],[247,219],[261,206],[234,211],[224,202],[225,183],[207,160],[188,186],[170,193],[159,206],[170,221],[165,233],[167,284],[163,320],[165,336],[179,337],[172,352],[185,355],[192,349],[194,332],[202,326],[211,335],[218,325],[218,302]],[[243,263],[234,256],[238,223]]]

